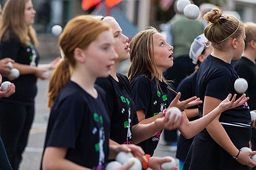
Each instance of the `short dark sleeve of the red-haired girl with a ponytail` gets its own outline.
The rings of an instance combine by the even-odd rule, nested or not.
[[[75,141],[82,127],[85,105],[80,95],[68,96],[54,111],[56,116],[47,145],[53,147],[75,148]]]

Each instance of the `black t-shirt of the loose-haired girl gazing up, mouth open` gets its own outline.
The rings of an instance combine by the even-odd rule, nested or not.
[[[148,76],[146,76],[148,75]],[[144,110],[145,118],[150,118],[157,115],[159,112],[167,108],[171,101],[175,98],[176,93],[171,83],[168,85],[159,81],[160,87],[156,86],[155,79],[150,81],[148,72],[146,75],[137,76],[131,82],[132,98],[135,102],[136,110]],[[148,78],[149,77],[149,78]],[[153,155],[154,150],[158,145],[162,130],[156,132],[155,135],[138,145],[142,147],[145,153]]]

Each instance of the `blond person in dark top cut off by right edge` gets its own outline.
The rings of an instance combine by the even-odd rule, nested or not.
[[[251,111],[256,110],[256,23],[245,23],[245,51],[242,57],[234,62],[234,68],[237,75],[245,78],[248,82],[248,89],[245,92],[248,100],[248,106]],[[252,150],[256,150],[256,130],[252,129],[251,138]],[[255,167],[254,167],[255,169]]]

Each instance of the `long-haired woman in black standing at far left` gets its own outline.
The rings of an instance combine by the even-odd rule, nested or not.
[[[33,122],[37,78],[48,78],[44,72],[57,62],[38,67],[37,37],[32,27],[35,14],[32,1],[8,0],[0,23],[0,59],[11,58],[20,72],[15,80],[4,75],[3,81],[14,83],[16,89],[9,98],[0,99],[0,135],[14,170],[19,169]]]

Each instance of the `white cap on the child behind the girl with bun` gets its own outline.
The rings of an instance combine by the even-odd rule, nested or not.
[[[210,41],[207,40],[205,34],[200,34],[194,39],[189,50],[189,58],[193,60],[194,64],[197,64],[197,57],[209,46]]]

